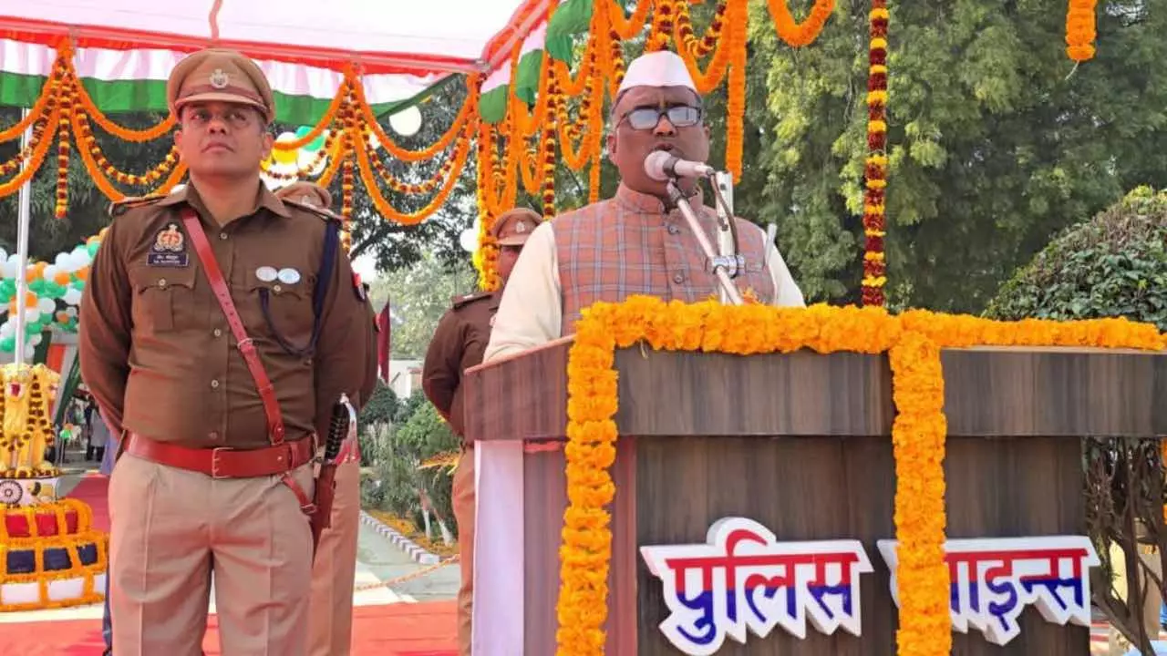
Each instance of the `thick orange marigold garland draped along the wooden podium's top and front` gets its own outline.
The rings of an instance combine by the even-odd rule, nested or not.
[[[657,350],[755,355],[811,349],[822,354],[888,354],[896,418],[899,656],[951,650],[949,578],[944,565],[944,375],[942,348],[1051,346],[1162,350],[1167,337],[1124,319],[1054,322],[990,321],[880,307],[775,308],[686,305],[650,296],[599,302],[584,310],[567,362],[566,474],[558,601],[558,656],[603,654],[612,516],[609,468],[619,439],[615,349],[638,342]],[[911,494],[909,494],[909,490]]]

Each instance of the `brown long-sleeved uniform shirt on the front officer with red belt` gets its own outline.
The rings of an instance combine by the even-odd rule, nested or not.
[[[314,354],[294,356],[277,342],[277,335],[295,348],[309,342],[326,222],[335,218],[257,187],[253,211],[223,226],[189,184],[111,211],[114,221],[82,300],[78,353],[85,384],[113,431],[195,448],[270,444],[256,383],[182,225],[179,212],[188,205],[198,212],[275,388],[287,439],[324,434],[342,392],[357,407],[371,392],[377,367],[371,310],[343,252],[337,251],[328,281]],[[261,266],[294,270],[299,280],[260,280]],[[271,321],[260,289],[268,292]]]

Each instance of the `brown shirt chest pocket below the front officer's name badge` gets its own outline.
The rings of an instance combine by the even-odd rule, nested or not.
[[[132,268],[134,326],[151,333],[189,327],[195,315],[195,274],[193,266]]]

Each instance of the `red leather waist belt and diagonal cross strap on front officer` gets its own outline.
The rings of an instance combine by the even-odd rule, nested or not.
[[[271,378],[267,377],[259,354],[256,353],[254,342],[243,327],[243,320],[239,319],[239,312],[235,307],[235,301],[231,300],[231,292],[228,289],[226,280],[215,259],[215,251],[211,250],[207,233],[198,222],[198,215],[191,208],[183,208],[180,214],[182,215],[182,224],[187,229],[187,236],[195,244],[195,252],[207,273],[211,291],[215,292],[219,307],[223,308],[239,354],[247,364],[247,370],[259,390],[259,399],[264,405],[264,414],[267,417],[268,439],[272,446],[249,451],[230,447],[187,448],[131,434],[126,452],[161,465],[200,472],[216,479],[250,479],[279,474],[282,475],[284,483],[295,493],[301,509],[305,512],[310,512],[313,510],[312,501],[300,484],[292,479],[289,472],[312,461],[315,456],[315,440],[308,438],[294,442],[284,441],[284,416],[280,413],[280,404],[275,398],[275,388],[272,385]]]

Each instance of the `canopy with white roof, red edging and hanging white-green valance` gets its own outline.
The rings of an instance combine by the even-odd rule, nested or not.
[[[558,0],[28,0],[0,6],[0,104],[29,105],[62,42],[107,112],[165,110],[187,53],[233,48],[277,92],[279,120],[308,121],[356,63],[372,105],[406,100],[450,74],[489,75],[546,23]]]

